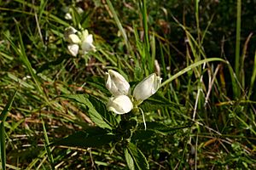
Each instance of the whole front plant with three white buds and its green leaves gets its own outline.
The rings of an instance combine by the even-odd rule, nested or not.
[[[99,147],[104,144],[112,144],[113,148],[116,144],[120,144],[123,147],[125,160],[130,169],[149,169],[146,157],[134,143],[135,140],[144,138],[143,126],[138,122],[136,113],[142,111],[141,108],[138,108],[138,105],[141,105],[145,99],[155,94],[160,88],[161,78],[154,73],[150,74],[142,82],[137,83],[132,90],[129,82],[119,72],[109,70],[106,75],[105,86],[112,94],[107,105],[101,99],[97,99],[90,94],[61,95],[62,98],[73,99],[82,105],[88,111],[91,122],[96,126],[86,127],[84,131],[74,133],[55,142],[55,144],[83,147]],[[109,111],[113,111],[117,115],[110,114]],[[126,114],[128,112],[131,112],[131,114]],[[146,129],[144,116],[143,123]],[[163,133],[170,129],[158,122],[148,123],[148,133]]]

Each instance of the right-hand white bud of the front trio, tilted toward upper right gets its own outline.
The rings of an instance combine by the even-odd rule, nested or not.
[[[137,100],[138,104],[155,94],[160,87],[161,80],[160,77],[153,73],[137,84],[133,90],[133,97]]]

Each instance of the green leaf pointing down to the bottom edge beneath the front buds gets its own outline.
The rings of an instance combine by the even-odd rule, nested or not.
[[[137,167],[136,169],[149,169],[146,157],[143,155],[141,150],[137,149],[135,144],[129,143],[127,149],[129,150],[129,154],[131,155],[132,160],[135,162],[135,166]]]

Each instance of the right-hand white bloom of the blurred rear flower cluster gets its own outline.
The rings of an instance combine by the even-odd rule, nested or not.
[[[87,54],[89,51],[96,51],[95,46],[92,44],[93,37],[87,30],[82,31],[81,37],[81,48],[84,54]]]

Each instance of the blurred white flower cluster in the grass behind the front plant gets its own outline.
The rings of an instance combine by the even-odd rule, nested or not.
[[[73,56],[96,51],[95,46],[92,44],[93,37],[87,30],[77,31],[70,26],[65,30],[65,39],[69,42],[67,49]]]

